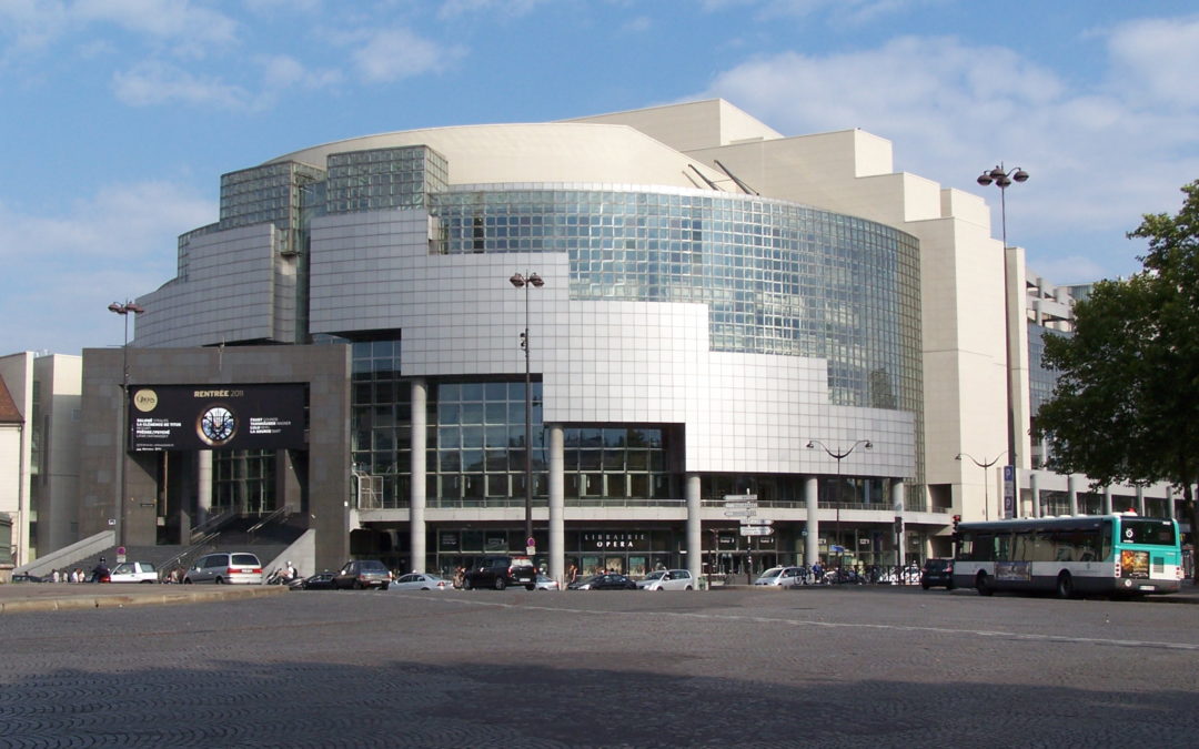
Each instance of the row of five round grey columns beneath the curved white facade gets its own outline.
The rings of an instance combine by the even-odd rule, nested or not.
[[[411,497],[409,511],[409,542],[411,544],[411,560],[417,572],[424,572],[426,549],[426,406],[428,404],[428,386],[424,380],[414,380],[411,383],[412,403],[412,428],[411,428]],[[564,518],[566,515],[566,496],[564,493],[564,466],[565,466],[565,441],[562,427],[559,424],[547,424],[549,437],[549,576],[561,581],[566,575],[566,530]],[[697,473],[688,473],[685,477],[683,491],[687,500],[687,567],[692,576],[699,578],[703,566],[703,532],[700,525],[700,477]],[[817,518],[817,477],[811,476],[803,482],[805,508],[807,509],[807,538],[803,549],[803,561],[806,564],[814,564],[819,558],[820,523]],[[891,499],[897,517],[903,515],[904,508],[904,484],[903,481],[891,482]],[[904,564],[903,533],[897,539],[898,563]]]

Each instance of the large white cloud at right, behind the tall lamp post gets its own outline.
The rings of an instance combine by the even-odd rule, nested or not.
[[[1169,59],[1157,67],[1131,52],[1144,49],[1129,42],[1143,32],[1137,24],[1113,31],[1113,72],[1086,87],[1008,48],[903,37],[857,53],[752,60],[700,96],[724,97],[783,133],[861,127],[887,138],[897,170],[996,205],[996,235],[999,197],[974,177],[999,162],[1019,164],[1032,180],[1010,191],[1008,238],[1028,247],[1029,235],[1061,237],[1073,243],[1030,248],[1030,256],[1040,264],[1042,254],[1093,250],[1108,267],[1099,274],[1127,273],[1135,252],[1125,231],[1143,213],[1174,205],[1177,187],[1199,174],[1194,84],[1170,105],[1145,108],[1138,92],[1113,83],[1135,75],[1169,96],[1177,71],[1191,65],[1193,49],[1175,44],[1189,32],[1167,41]],[[1185,49],[1170,56],[1176,46]]]

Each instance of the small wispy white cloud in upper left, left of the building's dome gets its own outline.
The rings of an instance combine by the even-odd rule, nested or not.
[[[223,83],[211,75],[195,75],[161,60],[146,60],[127,71],[113,74],[116,98],[131,107],[185,104],[245,109],[252,97],[241,86]]]

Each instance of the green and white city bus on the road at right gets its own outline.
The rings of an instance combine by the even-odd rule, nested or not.
[[[1134,513],[962,523],[953,584],[1074,594],[1175,593],[1182,584],[1179,525]]]

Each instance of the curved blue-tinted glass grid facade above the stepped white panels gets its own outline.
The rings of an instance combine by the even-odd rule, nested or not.
[[[456,188],[440,252],[565,252],[571,298],[694,302],[712,348],[829,362],[835,405],[921,412],[918,244],[884,224],[700,191]]]

